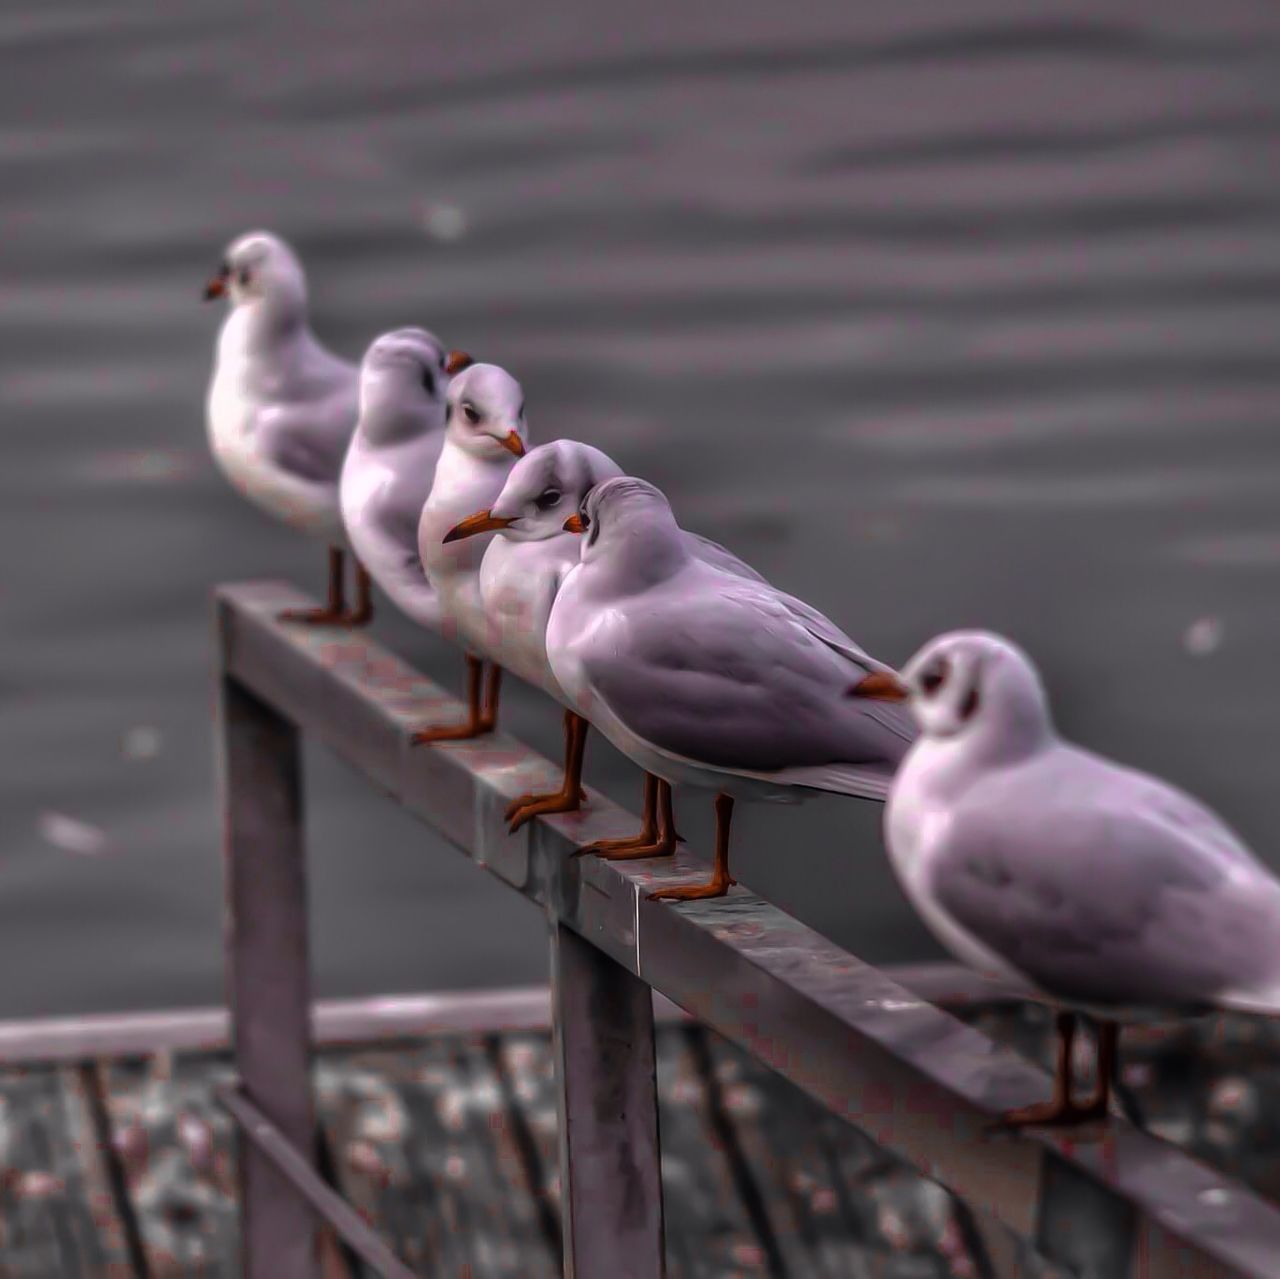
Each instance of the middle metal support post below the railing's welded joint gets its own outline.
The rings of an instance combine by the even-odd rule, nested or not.
[[[570,1279],[659,1279],[662,1178],[653,992],[552,924],[561,1203]]]

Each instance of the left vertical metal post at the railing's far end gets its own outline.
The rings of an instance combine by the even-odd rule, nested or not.
[[[242,1087],[314,1157],[306,874],[297,728],[223,675],[218,698],[227,992]],[[275,1165],[239,1142],[241,1274],[315,1279],[316,1223]]]

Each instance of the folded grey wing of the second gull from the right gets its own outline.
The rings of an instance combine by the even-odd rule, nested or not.
[[[723,768],[901,759],[909,735],[845,696],[858,668],[777,591],[724,583],[723,574],[696,575],[602,620],[582,662],[623,725],[662,750]]]

